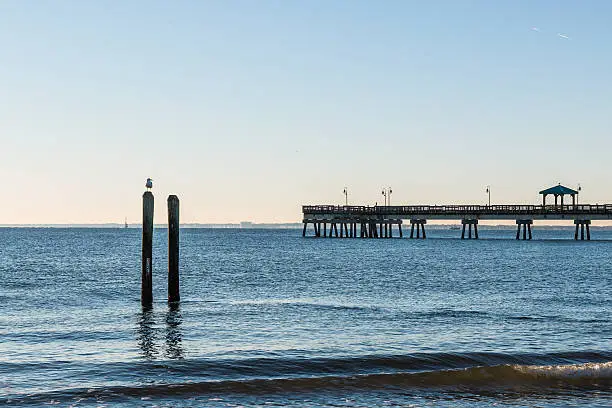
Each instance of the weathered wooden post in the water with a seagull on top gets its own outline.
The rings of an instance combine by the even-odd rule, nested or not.
[[[142,286],[140,302],[153,303],[153,193],[142,195]]]

